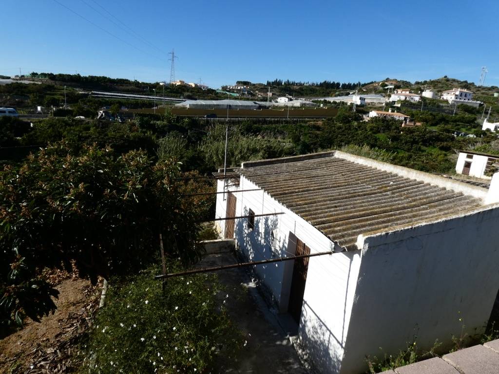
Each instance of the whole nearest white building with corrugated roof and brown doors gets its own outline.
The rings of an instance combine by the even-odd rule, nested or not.
[[[247,216],[217,221],[243,256],[330,252],[254,267],[320,372],[363,373],[367,355],[397,354],[414,335],[430,350],[484,331],[499,289],[499,180],[487,190],[338,151],[238,173],[216,216]]]

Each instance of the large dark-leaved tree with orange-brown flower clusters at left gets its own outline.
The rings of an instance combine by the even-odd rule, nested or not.
[[[159,235],[167,254],[196,261],[202,198],[179,198],[193,186],[177,180],[173,161],[154,163],[144,151],[116,157],[110,148],[65,143],[41,150],[0,175],[0,329],[37,320],[54,309],[56,291],[45,267],[81,276],[136,272],[156,258]]]

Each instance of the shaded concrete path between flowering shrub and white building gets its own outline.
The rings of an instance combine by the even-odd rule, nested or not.
[[[232,253],[206,256],[197,267],[235,264]],[[217,272],[228,288],[226,307],[231,320],[245,335],[246,346],[236,361],[219,358],[218,373],[305,374],[296,351],[289,341],[286,316],[272,313],[261,298],[258,288],[243,269]],[[225,295],[224,295],[225,296]]]

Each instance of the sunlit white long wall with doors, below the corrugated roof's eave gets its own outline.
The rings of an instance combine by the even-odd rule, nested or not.
[[[223,182],[219,182],[218,187],[222,190]],[[257,187],[241,177],[239,188]],[[226,201],[222,201],[222,195],[217,198],[217,216],[225,216]],[[328,237],[267,193],[239,192],[236,197],[236,215],[247,215],[249,209],[255,214],[284,212],[282,215],[256,217],[253,230],[248,230],[246,218],[236,220],[236,241],[251,261],[293,255],[294,237],[303,241],[310,253],[332,249],[333,243]],[[273,249],[270,246],[272,230]],[[285,261],[255,268],[281,313],[287,311],[293,266],[294,261]],[[311,257],[309,260],[299,338],[303,346],[309,348],[310,358],[325,373],[339,373],[359,266],[360,251]]]

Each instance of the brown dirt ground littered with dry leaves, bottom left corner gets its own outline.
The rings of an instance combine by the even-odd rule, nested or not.
[[[55,287],[57,310],[0,340],[0,374],[67,373],[77,366],[75,342],[91,324],[100,288],[70,278]],[[73,350],[73,352],[71,352]]]

